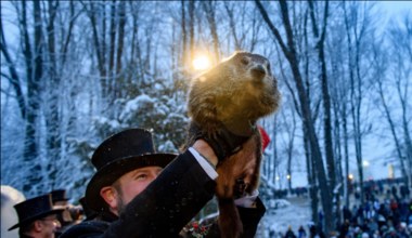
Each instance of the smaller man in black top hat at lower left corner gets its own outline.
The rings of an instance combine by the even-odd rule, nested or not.
[[[18,223],[9,230],[20,227],[20,237],[54,238],[60,228],[57,214],[62,209],[54,209],[51,195],[42,195],[27,199],[14,206],[17,212]]]

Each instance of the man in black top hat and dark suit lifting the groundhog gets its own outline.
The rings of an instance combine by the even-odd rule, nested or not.
[[[130,129],[104,141],[91,160],[98,171],[85,200],[99,215],[62,238],[178,237],[215,194],[219,160],[203,140],[179,156],[160,154],[149,131]],[[259,199],[244,203],[254,207],[240,208],[244,234],[253,237],[266,209]]]

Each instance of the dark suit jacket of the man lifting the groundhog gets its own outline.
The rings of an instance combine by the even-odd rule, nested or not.
[[[179,237],[183,226],[214,197],[215,187],[216,182],[185,151],[130,201],[120,217],[105,213],[99,221],[73,226],[61,238]]]

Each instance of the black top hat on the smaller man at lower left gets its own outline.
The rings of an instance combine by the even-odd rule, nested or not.
[[[27,225],[33,221],[56,214],[63,209],[53,209],[51,194],[30,198],[14,206],[17,212],[18,223],[10,227],[9,230],[15,229],[22,225]]]

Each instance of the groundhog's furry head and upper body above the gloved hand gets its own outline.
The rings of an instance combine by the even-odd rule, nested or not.
[[[259,118],[278,109],[280,98],[269,61],[235,52],[192,81],[188,113],[207,130],[221,122],[234,133],[248,134]]]

